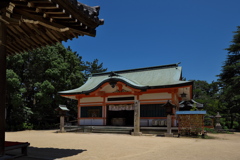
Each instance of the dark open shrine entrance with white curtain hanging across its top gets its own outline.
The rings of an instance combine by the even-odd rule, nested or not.
[[[132,105],[107,106],[107,125],[109,126],[133,126],[134,110]]]

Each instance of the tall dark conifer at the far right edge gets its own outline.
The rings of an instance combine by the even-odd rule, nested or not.
[[[226,48],[227,58],[218,75],[221,85],[221,101],[226,106],[223,112],[229,128],[234,128],[234,121],[240,119],[240,26],[234,32],[232,44]]]

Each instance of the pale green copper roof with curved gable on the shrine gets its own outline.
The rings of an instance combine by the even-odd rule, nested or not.
[[[123,82],[130,87],[146,90],[153,88],[170,88],[192,84],[190,81],[181,81],[182,67],[178,64],[138,68],[93,74],[87,82],[79,88],[61,91],[59,94],[87,94],[98,89],[106,82]]]

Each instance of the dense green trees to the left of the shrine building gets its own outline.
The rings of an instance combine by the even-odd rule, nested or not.
[[[88,75],[92,71],[106,71],[102,67],[97,59],[83,62],[79,54],[61,44],[8,57],[8,129],[48,128],[59,122],[55,111],[59,104],[66,104],[75,118],[77,102],[57,93],[80,87],[86,79],[86,71]]]

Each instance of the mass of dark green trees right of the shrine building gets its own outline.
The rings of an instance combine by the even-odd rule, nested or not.
[[[240,124],[240,27],[234,32],[217,82],[195,81],[194,99],[203,103],[208,113],[220,112],[224,128],[239,128]]]

